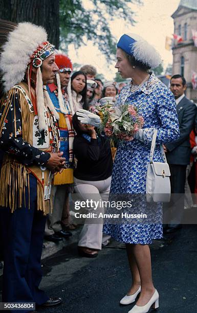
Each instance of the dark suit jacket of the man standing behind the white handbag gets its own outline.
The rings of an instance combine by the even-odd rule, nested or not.
[[[189,134],[194,126],[196,111],[196,105],[186,97],[177,105],[180,137],[165,145],[168,149],[166,158],[169,164],[189,164],[191,154]]]

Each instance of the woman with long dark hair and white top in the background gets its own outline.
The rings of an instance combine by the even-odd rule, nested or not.
[[[68,86],[69,102],[73,108],[73,114],[80,108],[87,109],[86,93],[87,83],[85,74],[82,71],[73,73]]]

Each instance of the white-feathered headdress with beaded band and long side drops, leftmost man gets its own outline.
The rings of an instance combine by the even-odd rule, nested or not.
[[[28,22],[16,25],[0,20],[2,43],[0,70],[3,93],[23,81],[26,75],[34,112],[38,115],[39,130],[47,130],[40,66],[43,60],[54,53],[54,49],[47,41],[45,29]],[[36,69],[35,97],[31,91],[32,68]]]

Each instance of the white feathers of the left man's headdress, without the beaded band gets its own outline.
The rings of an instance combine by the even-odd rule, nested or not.
[[[0,56],[4,92],[24,79],[31,55],[39,44],[46,40],[45,29],[28,22],[19,23],[16,29],[9,33]]]

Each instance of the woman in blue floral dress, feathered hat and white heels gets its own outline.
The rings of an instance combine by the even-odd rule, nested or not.
[[[160,144],[179,137],[176,102],[170,90],[149,72],[161,63],[154,47],[135,34],[124,34],[117,44],[115,68],[122,78],[131,78],[119,95],[117,106],[132,104],[144,118],[143,128],[134,140],[121,141],[116,153],[111,194],[145,194],[150,146],[155,129],[155,162],[163,162]],[[161,190],[162,192],[162,190]],[[141,204],[144,206],[144,202]],[[146,204],[144,209],[156,209],[162,215],[161,204]],[[162,223],[106,223],[103,232],[126,244],[132,284],[120,300],[123,305],[135,302],[129,313],[146,313],[159,307],[159,293],[152,283],[151,258],[148,244],[162,238]]]

